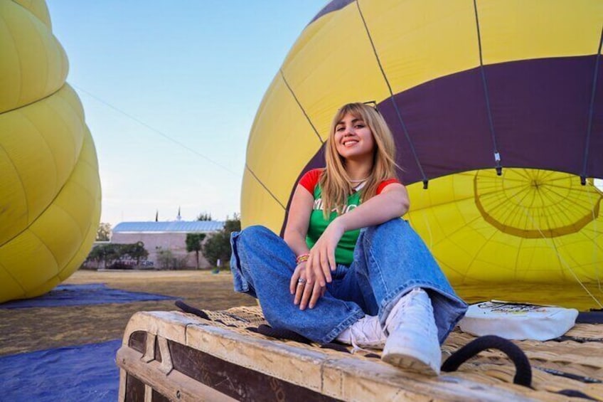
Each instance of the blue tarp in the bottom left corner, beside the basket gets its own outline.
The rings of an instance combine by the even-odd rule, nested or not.
[[[117,401],[122,341],[0,356],[1,401]]]

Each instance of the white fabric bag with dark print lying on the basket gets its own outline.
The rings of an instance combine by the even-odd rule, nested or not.
[[[578,310],[513,302],[481,302],[469,306],[459,322],[461,331],[481,337],[546,341],[565,334],[578,317]]]

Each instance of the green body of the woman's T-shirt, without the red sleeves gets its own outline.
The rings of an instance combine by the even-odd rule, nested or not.
[[[329,223],[337,218],[336,211],[333,211],[331,212],[331,216],[329,216],[329,221],[326,221],[322,214],[323,206],[321,194],[322,191],[320,186],[314,187],[314,206],[312,206],[308,233],[306,235],[306,244],[308,245],[308,248],[314,246],[326,227],[329,226]],[[356,208],[361,202],[360,191],[356,191],[348,197],[348,204],[344,213]],[[337,243],[337,248],[335,249],[335,262],[337,264],[350,265],[352,263],[354,260],[354,247],[356,246],[356,240],[358,240],[359,235],[360,229],[343,233],[343,236],[341,237],[341,240],[339,240],[339,243]]]

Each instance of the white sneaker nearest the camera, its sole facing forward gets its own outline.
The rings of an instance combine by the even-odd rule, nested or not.
[[[395,366],[439,375],[442,351],[429,295],[416,287],[404,295],[385,319],[389,333],[381,359]]]

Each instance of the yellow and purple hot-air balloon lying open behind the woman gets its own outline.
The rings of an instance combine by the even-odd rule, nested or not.
[[[281,231],[337,108],[375,100],[453,285],[598,280],[602,27],[603,1],[331,1],[257,111],[243,226]]]

